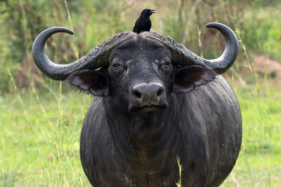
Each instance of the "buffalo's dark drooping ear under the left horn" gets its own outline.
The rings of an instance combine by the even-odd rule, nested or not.
[[[75,88],[79,88],[81,91],[90,92],[92,95],[109,95],[107,75],[103,69],[100,69],[99,71],[89,69],[75,71],[67,78],[67,80]]]

